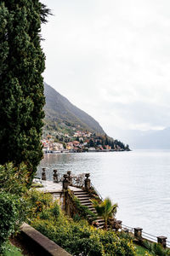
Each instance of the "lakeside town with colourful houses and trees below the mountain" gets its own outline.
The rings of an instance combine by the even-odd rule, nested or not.
[[[79,153],[128,151],[128,145],[114,140],[106,135],[96,135],[89,131],[75,131],[72,136],[55,131],[42,138],[44,153]]]

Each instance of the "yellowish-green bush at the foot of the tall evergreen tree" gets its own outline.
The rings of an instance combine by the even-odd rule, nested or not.
[[[0,166],[0,192],[23,195],[28,182],[27,168],[21,164],[15,167],[12,163]]]

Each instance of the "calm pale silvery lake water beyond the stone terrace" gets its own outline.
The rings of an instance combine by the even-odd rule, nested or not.
[[[118,203],[117,219],[170,240],[170,151],[45,154],[38,167],[60,174],[89,172],[92,183],[105,198]]]

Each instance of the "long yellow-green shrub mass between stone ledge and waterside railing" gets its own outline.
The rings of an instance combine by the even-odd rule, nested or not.
[[[32,225],[72,255],[136,255],[131,241],[119,239],[113,231],[94,229],[85,222],[74,223],[64,215],[56,222],[34,219]]]

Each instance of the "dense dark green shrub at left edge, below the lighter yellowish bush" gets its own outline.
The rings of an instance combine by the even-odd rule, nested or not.
[[[0,194],[0,248],[20,226],[20,200],[15,195],[6,192]]]

